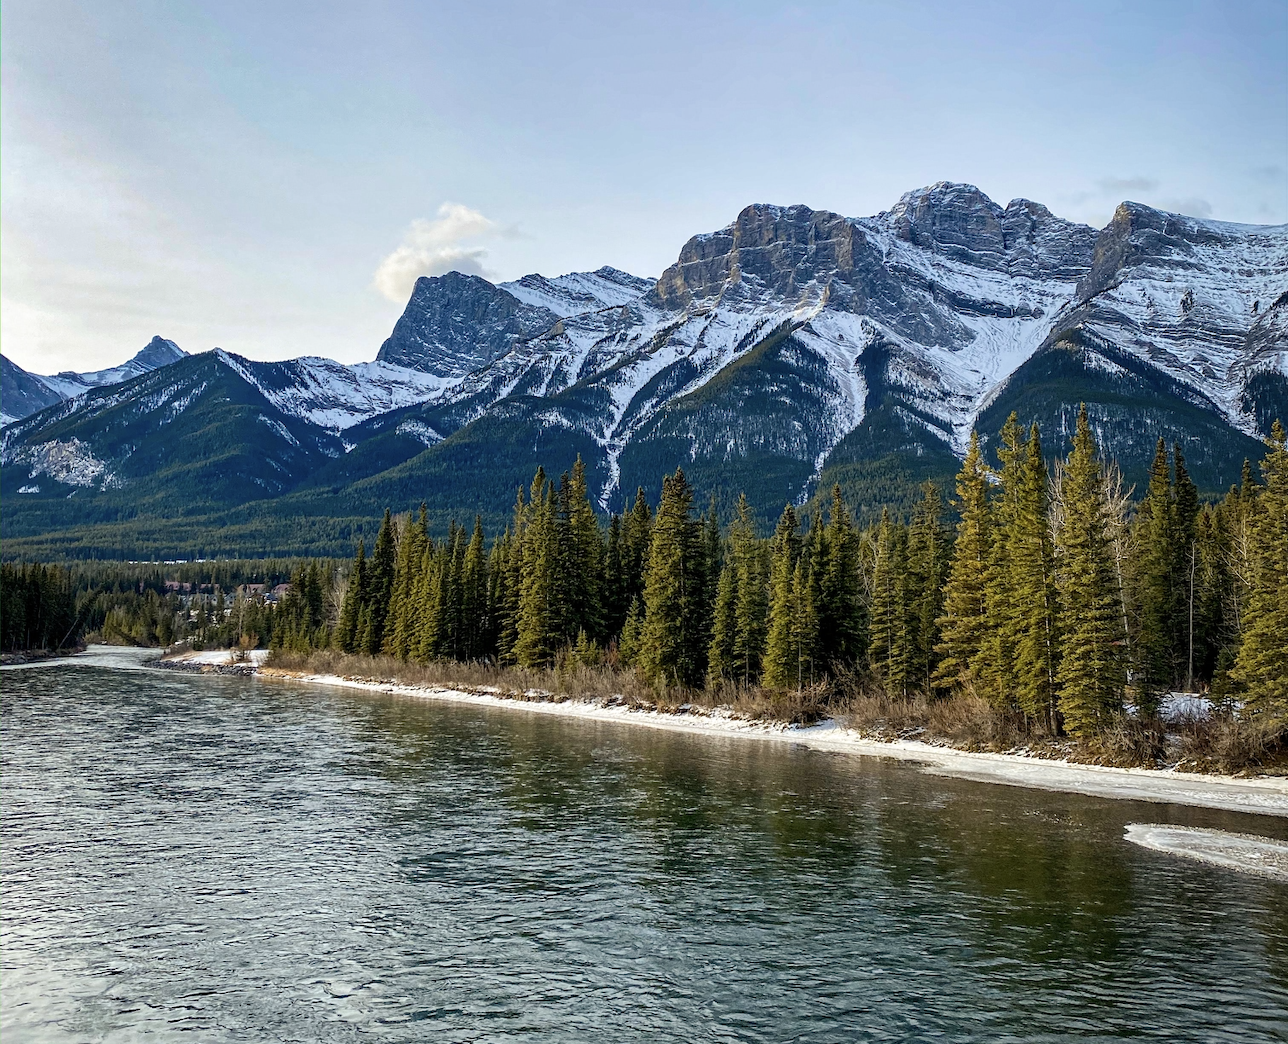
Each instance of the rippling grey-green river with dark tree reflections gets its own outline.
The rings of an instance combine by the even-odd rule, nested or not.
[[[1288,886],[1123,841],[1288,820],[137,662],[3,673],[5,1044],[1288,1040]]]

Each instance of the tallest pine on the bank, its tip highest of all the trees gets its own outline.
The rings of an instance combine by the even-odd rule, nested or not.
[[[1056,687],[1065,727],[1081,736],[1122,709],[1126,685],[1105,470],[1086,405],[1078,413],[1059,496],[1055,551],[1063,648]]]

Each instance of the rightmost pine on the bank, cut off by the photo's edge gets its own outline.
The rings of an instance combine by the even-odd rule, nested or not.
[[[1251,512],[1244,628],[1230,677],[1251,713],[1288,723],[1288,439],[1279,421],[1261,472],[1265,487]]]

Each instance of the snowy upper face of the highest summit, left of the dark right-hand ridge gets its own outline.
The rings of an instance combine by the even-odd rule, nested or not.
[[[592,402],[565,422],[603,445],[608,496],[623,447],[662,411],[791,336],[823,367],[818,394],[828,405],[800,421],[815,470],[878,390],[960,448],[987,394],[1073,296],[1095,234],[1027,201],[1002,209],[965,185],[909,193],[872,219],[747,207],[693,237],[643,299],[565,318],[442,399],[468,403],[462,421],[516,394]],[[692,438],[697,447],[701,433]],[[737,442],[723,422],[719,438]]]

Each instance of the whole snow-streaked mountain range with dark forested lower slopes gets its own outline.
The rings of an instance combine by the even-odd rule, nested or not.
[[[495,524],[538,463],[578,454],[605,508],[683,465],[764,519],[832,483],[869,515],[951,481],[972,427],[1011,411],[1061,452],[1079,402],[1128,481],[1164,438],[1215,492],[1288,417],[1285,291],[1288,227],[1123,203],[1096,230],[951,183],[871,218],[755,205],[657,281],[421,278],[374,363],[216,350],[46,407],[4,431],[5,532],[84,517],[48,506],[68,492],[135,517],[149,440],[166,474],[205,476],[198,499],[278,498],[341,529],[421,501]],[[258,492],[220,485],[198,429],[175,443],[198,409]]]

